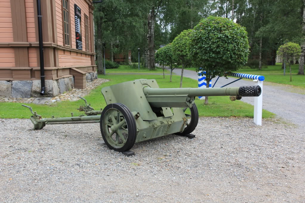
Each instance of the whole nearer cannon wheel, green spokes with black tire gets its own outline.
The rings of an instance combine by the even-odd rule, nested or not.
[[[102,111],[100,128],[109,149],[124,152],[135,144],[135,118],[124,104],[108,104]]]

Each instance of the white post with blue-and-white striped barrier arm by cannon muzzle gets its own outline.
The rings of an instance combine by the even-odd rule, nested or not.
[[[257,125],[262,125],[262,110],[263,110],[263,81],[265,77],[262,75],[251,75],[243,73],[231,73],[229,76],[237,78],[253,79],[257,85],[260,86],[262,93],[260,96],[254,97],[254,123]]]

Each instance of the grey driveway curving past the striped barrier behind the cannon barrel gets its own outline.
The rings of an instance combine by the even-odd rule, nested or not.
[[[181,75],[181,69],[174,69],[173,72]],[[195,71],[184,69],[183,76],[197,80],[198,76]],[[218,79],[214,87],[221,87],[237,78]],[[216,79],[214,79],[215,81]],[[253,85],[254,82],[241,79],[234,82],[228,87],[238,87],[243,85]],[[298,93],[294,93],[298,92]],[[303,89],[293,88],[287,85],[264,82],[263,85],[263,108],[277,114],[287,121],[292,121],[295,124],[305,125],[305,95]],[[253,105],[253,97],[243,97],[242,101]]]

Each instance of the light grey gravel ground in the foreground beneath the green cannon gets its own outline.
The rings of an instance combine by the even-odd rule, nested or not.
[[[200,118],[196,138],[96,144],[99,124],[0,119],[0,202],[305,202],[304,128]]]

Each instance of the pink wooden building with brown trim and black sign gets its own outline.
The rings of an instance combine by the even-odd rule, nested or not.
[[[41,0],[41,13],[45,96],[85,88],[86,82],[97,78],[92,1]],[[38,41],[36,0],[1,0],[0,96],[8,96],[9,83],[12,97],[38,95]],[[23,90],[26,94],[16,93],[22,86],[31,88]]]

